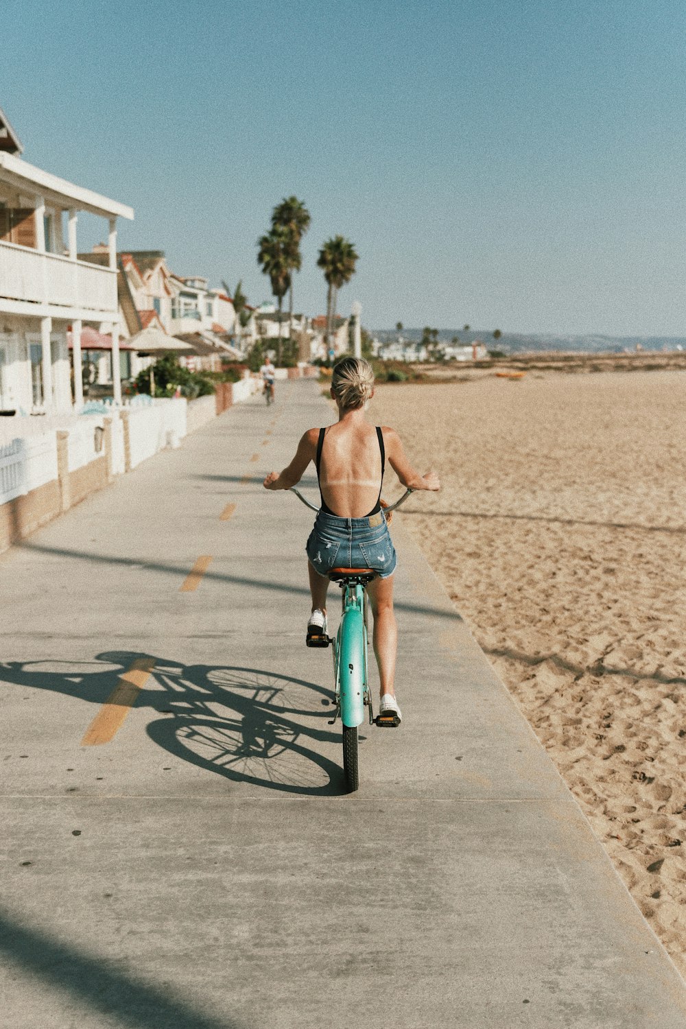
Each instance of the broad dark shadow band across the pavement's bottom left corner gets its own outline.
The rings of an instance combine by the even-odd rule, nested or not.
[[[141,983],[106,958],[91,956],[40,929],[29,928],[24,919],[22,923],[0,912],[3,963],[21,969],[28,980],[45,984],[56,994],[70,995],[77,1009],[87,1004],[107,1025],[115,1020],[130,1029],[247,1029],[232,1018],[204,1015],[182,998],[175,998],[169,983],[164,988]],[[50,1010],[50,1024],[55,1024],[56,1008],[59,1010],[59,1002]],[[76,1025],[77,1021],[76,1014],[65,1013],[62,1024]]]

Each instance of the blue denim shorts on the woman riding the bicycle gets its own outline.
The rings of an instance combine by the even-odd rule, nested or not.
[[[367,518],[338,518],[320,511],[305,551],[321,575],[328,574],[331,568],[369,568],[380,578],[389,578],[398,560],[383,512]]]

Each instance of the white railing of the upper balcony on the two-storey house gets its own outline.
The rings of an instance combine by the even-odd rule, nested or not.
[[[0,243],[2,298],[116,314],[116,271]]]

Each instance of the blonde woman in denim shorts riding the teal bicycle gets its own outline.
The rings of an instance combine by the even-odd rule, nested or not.
[[[299,483],[314,461],[322,498],[321,509],[308,539],[308,571],[312,614],[308,633],[326,633],[326,592],[331,568],[370,568],[376,577],[368,588],[374,616],[373,646],[381,679],[380,711],[394,711],[395,663],[398,642],[393,610],[393,573],[396,553],[381,504],[386,461],[403,486],[411,490],[439,490],[438,475],[419,475],[394,429],[370,425],[364,409],[374,393],[371,366],[360,357],[345,357],[333,368],[331,396],[338,421],[323,429],[309,429],[287,468],[264,480],[267,490],[289,490]]]

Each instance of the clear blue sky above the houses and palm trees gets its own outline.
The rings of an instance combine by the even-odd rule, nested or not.
[[[255,243],[340,233],[363,323],[686,333],[677,0],[5,0],[25,158],[136,209],[122,248],[268,298]],[[88,238],[88,244],[94,240]]]

